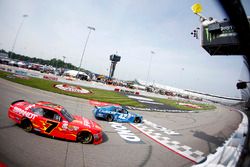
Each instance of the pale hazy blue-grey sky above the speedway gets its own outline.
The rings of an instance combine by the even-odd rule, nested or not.
[[[203,15],[226,17],[215,0],[0,0],[0,48],[11,50],[22,15],[28,14],[14,52],[43,59],[65,56],[79,66],[87,26],[92,26],[96,31],[89,37],[85,69],[108,75],[109,55],[117,53],[116,78],[240,97],[235,85],[247,76],[241,56],[210,56],[190,35],[200,25],[191,11],[196,2],[203,5]]]

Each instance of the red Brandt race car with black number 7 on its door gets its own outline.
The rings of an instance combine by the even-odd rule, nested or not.
[[[84,144],[102,142],[100,125],[81,116],[73,116],[64,107],[50,102],[32,104],[18,100],[11,103],[8,116],[27,132],[38,131]]]

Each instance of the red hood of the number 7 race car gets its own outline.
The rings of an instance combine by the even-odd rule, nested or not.
[[[71,123],[78,125],[82,128],[87,128],[87,129],[94,129],[96,131],[101,131],[101,126],[97,124],[96,122],[89,120],[87,118],[74,115],[75,120],[73,120]]]

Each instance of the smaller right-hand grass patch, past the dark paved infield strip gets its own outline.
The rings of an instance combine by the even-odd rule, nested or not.
[[[160,102],[160,103],[164,103],[168,106],[174,107],[176,109],[179,110],[213,110],[216,107],[213,105],[209,105],[209,104],[201,104],[201,103],[193,103],[193,102],[185,102],[185,101],[181,101],[181,100],[171,100],[171,99],[160,99],[160,98],[154,98],[155,101]],[[181,106],[179,105],[179,103],[189,103],[189,104],[194,104],[197,105],[201,108],[191,108],[188,106]]]

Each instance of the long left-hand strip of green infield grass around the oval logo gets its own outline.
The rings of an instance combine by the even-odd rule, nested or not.
[[[65,92],[63,90],[60,90],[54,87],[54,85],[56,84],[62,84],[61,82],[33,78],[33,77],[29,77],[29,79],[23,79],[19,77],[15,77],[15,78],[8,77],[11,75],[12,75],[11,73],[0,71],[1,78],[12,81],[12,82],[16,82],[22,85],[30,86],[33,88],[46,90],[46,91],[59,93],[59,94],[64,94],[68,96],[78,97],[78,98],[89,99],[89,100],[97,100],[101,102],[115,103],[115,104],[120,104],[120,105],[125,105],[125,106],[144,107],[139,102],[129,99],[127,96],[121,95],[114,91],[82,87],[86,90],[91,91],[92,93],[89,93],[89,94],[71,93],[71,92]]]

